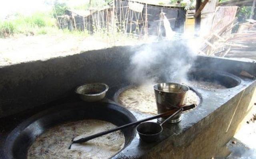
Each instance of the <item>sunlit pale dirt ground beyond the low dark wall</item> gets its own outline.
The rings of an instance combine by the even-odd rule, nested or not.
[[[124,36],[110,39],[100,36],[74,36],[72,34],[0,38],[0,66],[47,60],[112,46],[142,44],[146,41],[148,40],[136,40]]]

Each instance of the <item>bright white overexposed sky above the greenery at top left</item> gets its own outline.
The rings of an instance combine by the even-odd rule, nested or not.
[[[50,6],[45,2],[53,2],[54,0],[2,0],[0,4],[0,19],[3,19],[8,14],[21,13],[31,14],[33,12],[41,12],[50,10]],[[69,6],[76,6],[85,3],[88,0],[59,0],[67,2]]]

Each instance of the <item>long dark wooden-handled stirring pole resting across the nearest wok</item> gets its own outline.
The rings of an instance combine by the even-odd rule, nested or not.
[[[192,109],[192,108],[194,108],[194,107],[195,107],[194,104],[185,106],[185,107],[183,107],[183,111],[186,111],[186,110],[188,110],[188,109]],[[176,113],[176,111],[178,111],[178,110],[179,110],[179,108],[177,108],[177,109],[172,109],[172,110],[167,111],[167,112],[165,112],[165,113],[161,113],[161,114],[158,114],[158,115],[154,115],[154,116],[152,116],[152,117],[148,117],[148,118],[145,118],[145,119],[142,119],[142,120],[138,120],[138,121],[135,121],[135,122],[132,122],[132,123],[128,123],[128,124],[126,124],[126,125],[122,125],[122,126],[120,126],[120,127],[114,128],[114,129],[106,130],[106,131],[103,131],[103,132],[101,132],[101,133],[96,133],[96,134],[91,135],[91,136],[88,136],[88,137],[84,137],[84,138],[81,138],[81,139],[78,139],[78,140],[73,140],[73,139],[72,139],[72,143],[70,144],[70,146],[68,147],[68,149],[71,148],[71,145],[72,145],[73,143],[84,143],[84,142],[89,141],[89,140],[91,140],[91,139],[95,139],[95,138],[97,138],[97,137],[100,137],[100,136],[103,136],[103,135],[106,135],[106,134],[109,134],[109,133],[112,133],[112,132],[115,132],[115,131],[124,129],[124,128],[126,128],[126,127],[131,127],[131,126],[134,126],[134,125],[138,125],[138,124],[140,124],[140,123],[142,123],[142,122],[144,122],[144,121],[149,121],[149,120],[152,120],[152,119],[157,119],[157,118],[159,118],[159,117],[170,116],[170,115]]]

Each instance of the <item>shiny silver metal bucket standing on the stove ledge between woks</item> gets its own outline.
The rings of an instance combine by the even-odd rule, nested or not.
[[[189,87],[179,83],[157,83],[154,85],[156,96],[157,111],[164,113],[178,107],[182,107],[186,103],[186,96]],[[168,117],[158,118],[159,122],[164,121]],[[169,120],[168,123],[177,123],[181,120],[181,115]]]

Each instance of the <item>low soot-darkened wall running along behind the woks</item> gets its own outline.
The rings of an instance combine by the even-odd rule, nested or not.
[[[161,45],[168,46],[168,44],[149,45],[161,47]],[[92,50],[47,61],[2,67],[0,68],[0,117],[72,95],[75,87],[83,83],[104,82],[113,87],[127,82],[128,76],[132,76],[132,74],[128,74],[130,73],[130,58],[142,47],[120,46]],[[165,51],[172,51],[172,49],[173,47]],[[168,62],[168,58],[166,61]],[[154,67],[157,69],[150,69],[157,72],[162,71],[164,65]],[[241,70],[240,67],[248,72],[256,70],[255,64],[250,62],[206,56],[198,56],[194,67],[235,73]],[[250,73],[256,74],[255,72]]]

